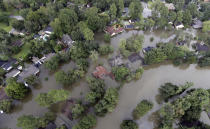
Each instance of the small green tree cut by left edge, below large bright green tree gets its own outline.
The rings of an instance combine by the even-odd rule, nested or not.
[[[12,100],[2,100],[0,101],[0,110],[6,112],[6,113],[10,113],[12,110]]]

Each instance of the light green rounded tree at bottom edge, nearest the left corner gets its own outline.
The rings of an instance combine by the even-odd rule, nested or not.
[[[32,115],[23,115],[17,119],[17,126],[22,129],[36,129],[38,124],[38,119]]]

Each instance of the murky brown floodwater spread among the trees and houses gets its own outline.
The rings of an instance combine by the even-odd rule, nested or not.
[[[118,53],[119,42],[122,39],[129,38],[133,34],[142,34],[145,37],[143,47],[155,46],[156,43],[161,41],[170,41],[174,38],[174,33],[169,32],[143,32],[143,31],[128,31],[123,32],[116,37],[111,39],[111,45],[114,47],[116,53]],[[153,37],[154,40],[151,42],[150,38]],[[102,41],[103,34],[99,33],[96,35],[96,41],[104,44]],[[109,55],[108,57],[111,57]],[[91,62],[91,61],[90,61]],[[99,63],[104,64],[104,66],[110,71],[110,66],[107,62],[107,57],[100,58]],[[90,75],[94,70],[96,64],[91,62],[90,68],[87,75]],[[73,62],[67,63],[61,67],[64,71],[75,67]],[[159,109],[155,101],[155,96],[158,93],[158,88],[161,84],[165,82],[173,82],[176,84],[183,84],[186,81],[192,81],[195,87],[210,88],[210,71],[208,69],[199,69],[196,65],[174,67],[171,64],[165,63],[161,65],[154,65],[147,67],[142,78],[138,81],[133,81],[124,85],[123,88],[119,90],[119,103],[114,110],[114,112],[107,114],[103,118],[98,118],[98,124],[96,129],[119,129],[119,125],[122,120],[130,119],[131,112],[142,99],[148,99],[154,103],[154,108],[151,112]],[[46,77],[48,80],[46,80]],[[45,112],[50,109],[40,107],[36,102],[35,98],[39,93],[48,92],[51,89],[61,89],[62,85],[56,83],[54,75],[49,73],[44,68],[41,68],[40,73],[40,86],[32,88],[31,95],[19,103],[19,106],[15,108],[12,114],[0,114],[0,128],[9,127],[11,129],[19,129],[16,127],[17,118],[21,115],[34,115],[42,116]],[[105,83],[108,87],[116,87],[118,84],[112,79],[105,79]],[[87,83],[83,78],[80,82],[74,84],[73,88],[64,88],[71,91],[71,97],[73,98],[83,98],[84,95],[89,91]],[[57,111],[58,107],[53,107],[51,110]],[[140,119],[138,122],[141,129],[152,129],[153,123],[148,121],[150,116],[148,113],[145,117]]]

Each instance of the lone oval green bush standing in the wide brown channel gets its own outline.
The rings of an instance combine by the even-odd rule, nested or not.
[[[153,108],[153,103],[147,101],[147,100],[142,100],[136,108],[133,110],[133,118],[134,119],[139,119],[143,117],[147,112],[149,112]]]

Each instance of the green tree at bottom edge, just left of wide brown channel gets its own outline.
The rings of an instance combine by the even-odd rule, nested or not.
[[[92,129],[96,126],[96,117],[93,115],[87,115],[83,117],[79,123],[74,125],[72,129]]]

